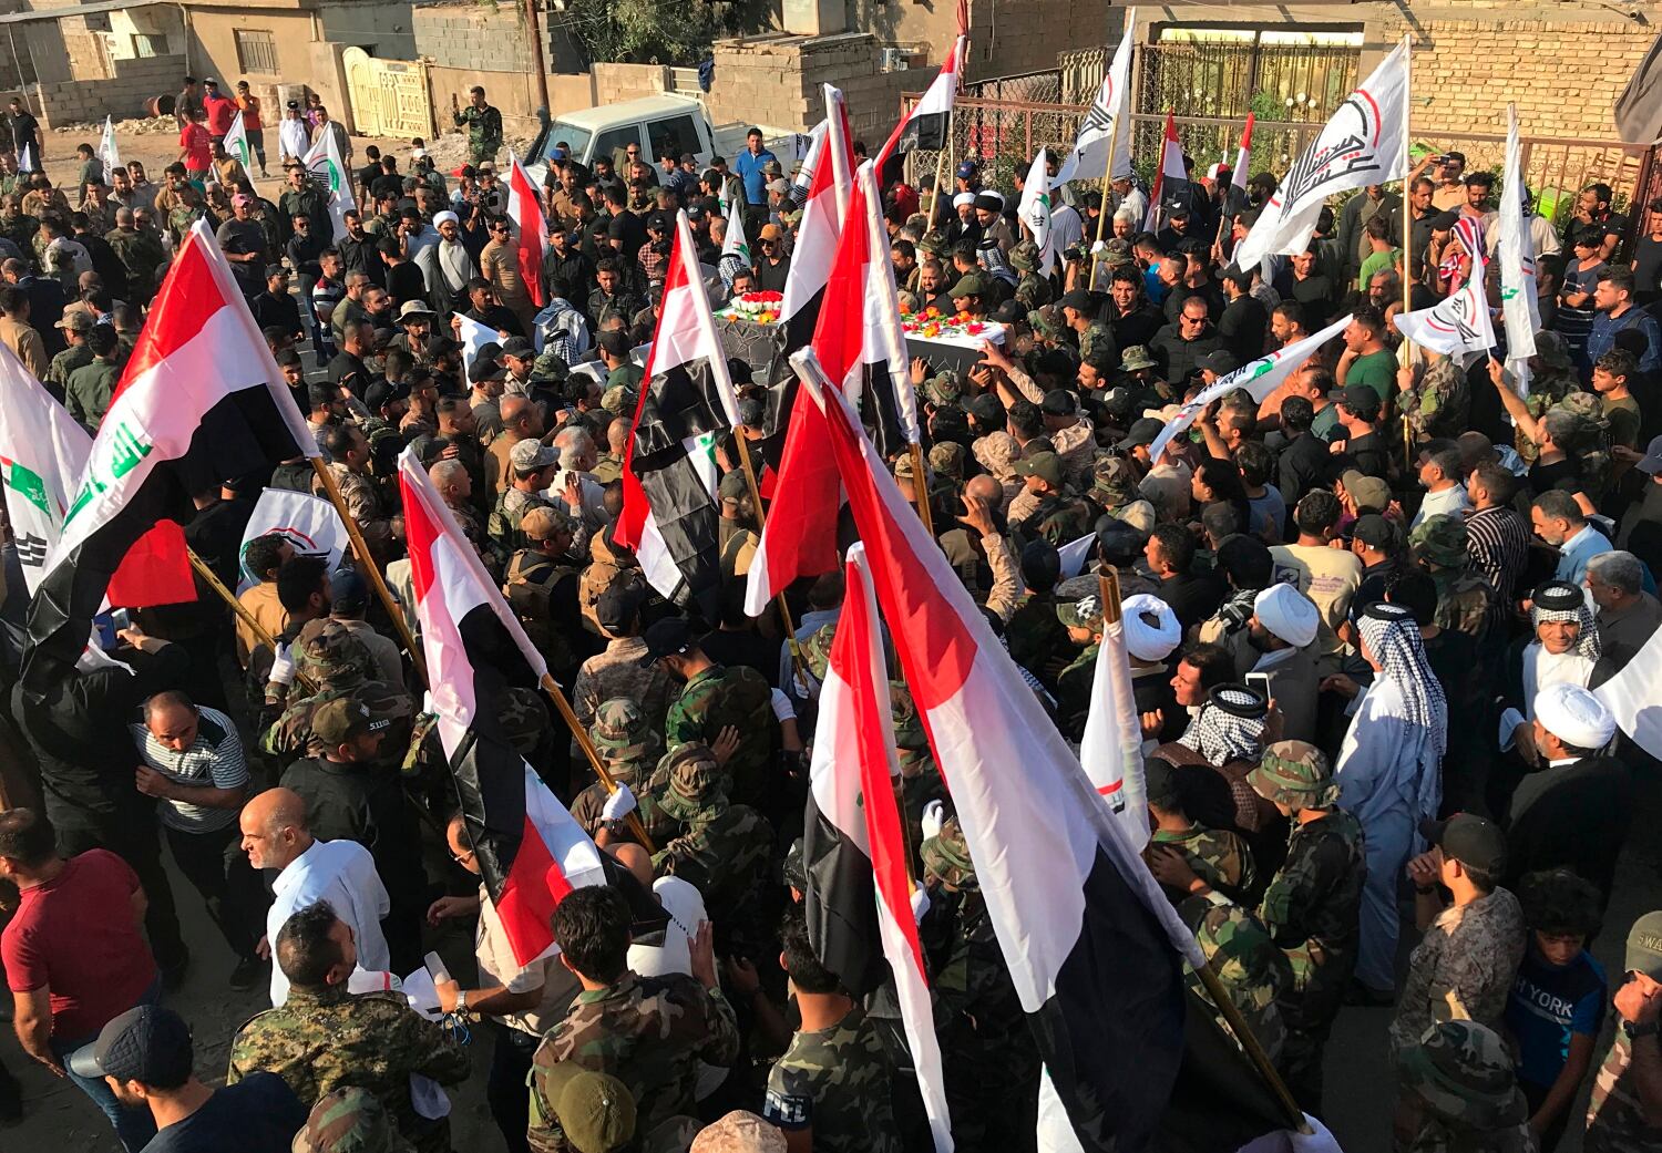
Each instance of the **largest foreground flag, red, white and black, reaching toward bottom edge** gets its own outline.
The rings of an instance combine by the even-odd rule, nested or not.
[[[1205,959],[848,400],[794,362],[1055,1097],[1087,1153],[1140,1150],[1182,1058],[1180,962]]]

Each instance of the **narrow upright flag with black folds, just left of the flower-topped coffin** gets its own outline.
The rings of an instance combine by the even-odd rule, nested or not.
[[[653,588],[708,621],[721,610],[716,440],[736,427],[738,402],[693,229],[686,213],[676,213],[647,380],[623,450],[617,538],[635,550]]]

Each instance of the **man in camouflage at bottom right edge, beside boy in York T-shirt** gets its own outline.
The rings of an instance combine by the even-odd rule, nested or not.
[[[1615,1037],[1599,1063],[1587,1105],[1587,1153],[1662,1148],[1662,912],[1647,912],[1627,932],[1625,984],[1615,990]]]

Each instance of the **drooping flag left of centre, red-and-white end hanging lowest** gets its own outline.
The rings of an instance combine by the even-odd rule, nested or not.
[[[553,944],[555,905],[572,889],[603,884],[605,864],[497,714],[505,689],[538,684],[548,666],[411,449],[399,457],[399,492],[439,743],[485,891],[524,965]]]

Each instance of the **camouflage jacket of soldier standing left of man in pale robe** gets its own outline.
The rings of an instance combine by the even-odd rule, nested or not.
[[[1306,1007],[1338,1008],[1356,965],[1366,856],[1361,824],[1345,809],[1293,824],[1286,862],[1270,881],[1258,919],[1286,950],[1293,990]]]

